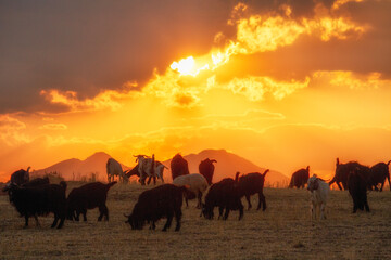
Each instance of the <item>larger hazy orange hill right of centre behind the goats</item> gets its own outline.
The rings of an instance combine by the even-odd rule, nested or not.
[[[184,155],[182,155],[184,156]],[[199,172],[199,164],[205,158],[217,160],[215,165],[215,173],[213,177],[213,182],[217,182],[223,178],[235,178],[236,172],[240,173],[250,173],[250,172],[261,172],[263,173],[266,169],[258,167],[251,162],[248,159],[244,159],[236,154],[228,153],[225,150],[204,150],[198,154],[185,155],[184,158],[189,162],[190,173]],[[163,161],[165,166],[169,168],[171,159]],[[166,171],[164,174],[165,179],[171,180],[171,172]],[[281,186],[288,185],[288,177],[282,173],[270,169],[266,174],[266,184],[268,186]]]

